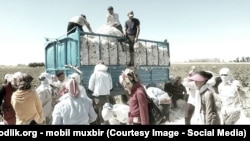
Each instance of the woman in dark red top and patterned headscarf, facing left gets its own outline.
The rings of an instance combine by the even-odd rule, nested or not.
[[[128,124],[148,125],[148,101],[144,87],[139,82],[138,76],[132,69],[126,69],[119,76],[119,82],[129,94]]]

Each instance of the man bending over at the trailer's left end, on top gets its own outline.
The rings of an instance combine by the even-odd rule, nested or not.
[[[67,27],[67,33],[68,33],[68,35],[70,33],[75,32],[76,27],[78,27],[80,29],[80,31],[83,32],[84,25],[88,28],[89,32],[93,33],[92,28],[91,28],[89,22],[87,21],[87,18],[86,18],[85,15],[81,14],[80,16],[74,16],[74,17],[72,17],[69,20],[68,27]]]

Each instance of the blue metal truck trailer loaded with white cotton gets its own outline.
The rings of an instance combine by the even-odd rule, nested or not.
[[[111,96],[124,94],[119,75],[129,62],[129,47],[121,36],[82,32],[56,39],[46,39],[45,69],[50,74],[63,70],[66,76],[77,68],[83,74],[82,85],[87,89],[90,75],[98,60],[104,61],[112,76]],[[68,67],[68,66],[71,66]],[[142,84],[162,87],[169,81],[170,51],[167,40],[159,42],[139,39],[135,44],[135,69]]]

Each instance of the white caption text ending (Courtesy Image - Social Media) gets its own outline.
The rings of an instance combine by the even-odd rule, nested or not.
[[[101,137],[106,136],[107,138],[112,137],[156,137],[156,136],[164,136],[168,138],[174,138],[177,136],[228,136],[228,137],[242,137],[246,138],[247,131],[246,129],[203,129],[203,130],[194,130],[187,129],[186,131],[173,131],[173,130],[156,130],[151,129],[147,131],[142,130],[118,130],[118,129],[91,129],[91,130],[72,130],[72,129],[60,129],[53,131],[19,131],[17,129],[7,129],[0,131],[0,136],[31,136],[32,138],[37,138],[38,135],[42,136],[92,136],[92,137]]]

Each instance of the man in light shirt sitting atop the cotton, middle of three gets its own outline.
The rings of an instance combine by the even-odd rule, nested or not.
[[[123,34],[122,26],[119,20],[119,15],[114,12],[114,8],[112,6],[108,7],[108,14],[106,16],[106,24],[117,28]]]

